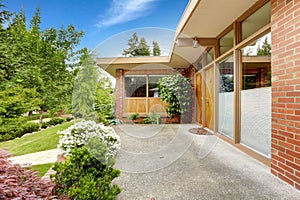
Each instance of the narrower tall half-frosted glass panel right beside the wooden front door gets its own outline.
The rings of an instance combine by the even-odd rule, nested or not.
[[[219,126],[218,132],[233,138],[234,62],[233,55],[219,63]]]

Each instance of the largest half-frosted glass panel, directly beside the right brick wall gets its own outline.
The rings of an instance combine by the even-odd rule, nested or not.
[[[242,49],[241,143],[271,152],[270,34]]]

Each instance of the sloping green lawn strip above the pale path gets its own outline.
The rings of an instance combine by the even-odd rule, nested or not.
[[[56,134],[57,131],[64,130],[72,124],[74,124],[74,121],[63,123],[22,138],[1,142],[0,148],[6,148],[14,156],[55,149],[59,141],[59,136]]]

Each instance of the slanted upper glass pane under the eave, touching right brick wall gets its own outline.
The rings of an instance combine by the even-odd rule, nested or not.
[[[271,3],[268,2],[242,22],[242,39],[246,39],[271,22]]]

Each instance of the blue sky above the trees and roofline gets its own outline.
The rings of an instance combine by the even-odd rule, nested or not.
[[[73,24],[85,36],[80,47],[102,57],[118,56],[133,32],[148,45],[159,42],[168,51],[188,0],[3,0],[10,11],[23,9],[30,20],[41,9],[42,28]],[[147,28],[152,27],[152,28]],[[121,44],[121,45],[120,45]],[[120,46],[123,46],[120,48]],[[119,48],[119,49],[118,49]]]

